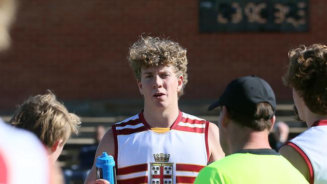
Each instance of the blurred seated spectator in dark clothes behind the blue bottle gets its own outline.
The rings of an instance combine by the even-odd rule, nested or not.
[[[94,134],[95,144],[83,146],[78,154],[79,165],[73,165],[70,169],[64,170],[66,184],[69,184],[70,181],[85,181],[93,165],[98,145],[105,133],[104,126],[96,128]]]

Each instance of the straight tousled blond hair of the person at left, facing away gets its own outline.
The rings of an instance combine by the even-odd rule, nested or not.
[[[51,147],[59,139],[63,144],[71,136],[77,135],[79,118],[56,100],[50,91],[26,100],[14,113],[11,125],[36,134],[44,145]]]

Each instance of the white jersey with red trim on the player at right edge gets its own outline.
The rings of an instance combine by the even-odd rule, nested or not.
[[[327,120],[313,123],[312,127],[288,143],[306,161],[312,184],[327,183]]]

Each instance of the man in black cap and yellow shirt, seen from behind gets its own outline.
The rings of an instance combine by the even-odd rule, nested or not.
[[[265,80],[257,76],[234,79],[209,110],[216,107],[221,107],[220,143],[231,154],[203,168],[194,183],[308,183],[269,145],[276,101]]]

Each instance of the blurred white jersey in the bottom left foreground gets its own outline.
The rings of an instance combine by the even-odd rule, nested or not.
[[[32,133],[0,119],[0,184],[46,184],[49,160],[44,146]]]

